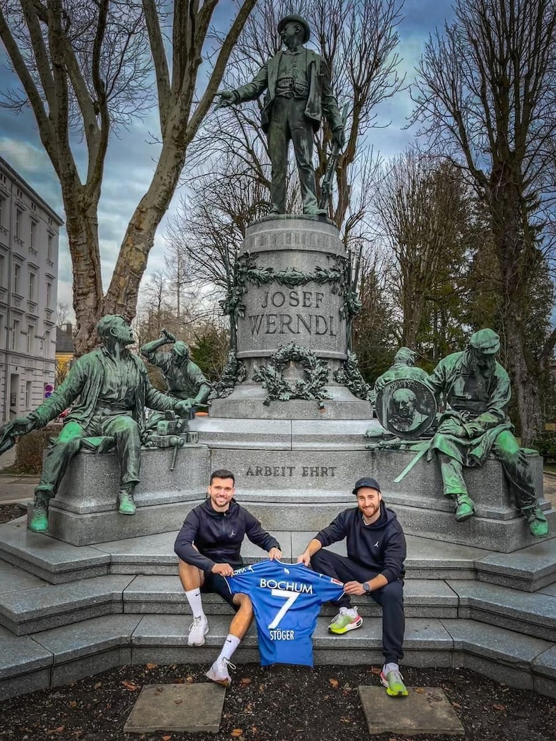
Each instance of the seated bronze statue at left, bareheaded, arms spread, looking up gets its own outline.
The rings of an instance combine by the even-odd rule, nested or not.
[[[116,445],[120,465],[118,511],[135,514],[133,491],[139,482],[145,406],[188,415],[185,402],[150,385],[145,363],[128,350],[128,345],[133,344],[133,332],[122,316],[103,316],[96,330],[102,347],[76,359],[62,385],[39,408],[10,423],[10,433],[23,435],[43,428],[73,405],[62,432],[44,456],[29,524],[34,532],[48,530],[50,499],[56,496],[67,466],[81,448],[82,439],[88,436],[102,436],[110,445]]]

